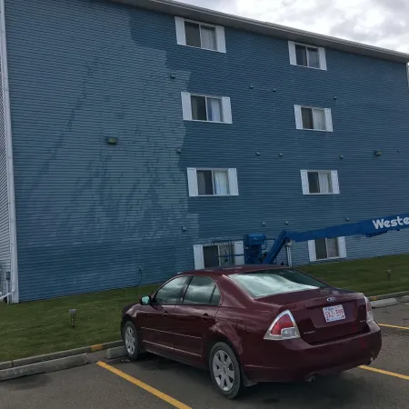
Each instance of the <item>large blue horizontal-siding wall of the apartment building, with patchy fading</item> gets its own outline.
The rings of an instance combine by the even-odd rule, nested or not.
[[[407,212],[403,64],[330,49],[307,69],[230,28],[226,54],[184,47],[173,16],[102,0],[6,13],[22,301],[161,282],[214,239]],[[184,122],[181,91],[230,96],[233,125]],[[294,104],[332,108],[334,133],[296,130]],[[236,168],[240,195],[188,197],[187,167]],[[300,169],[337,170],[341,195],[304,196]],[[408,251],[397,237],[347,254]]]

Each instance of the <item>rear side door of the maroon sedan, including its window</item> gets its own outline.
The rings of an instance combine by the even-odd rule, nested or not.
[[[174,354],[203,364],[205,340],[214,325],[220,292],[210,277],[195,275],[187,285],[182,303],[173,312]]]

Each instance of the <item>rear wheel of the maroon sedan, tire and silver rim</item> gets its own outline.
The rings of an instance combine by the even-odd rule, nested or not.
[[[235,399],[243,392],[241,366],[228,344],[214,344],[209,355],[209,369],[214,387],[225,398]]]

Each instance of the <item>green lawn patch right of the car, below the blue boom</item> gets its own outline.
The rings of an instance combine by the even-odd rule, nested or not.
[[[359,291],[368,296],[409,291],[409,254],[309,264],[301,269],[325,283]],[[387,270],[392,270],[390,281],[386,274]]]

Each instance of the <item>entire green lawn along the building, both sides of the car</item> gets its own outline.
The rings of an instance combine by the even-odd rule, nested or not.
[[[409,254],[301,269],[328,284],[365,295],[409,291]],[[386,270],[392,270],[391,281]],[[0,362],[116,341],[121,338],[122,308],[154,290],[155,285],[17,305],[0,303]],[[75,328],[70,325],[70,308],[77,310]]]

